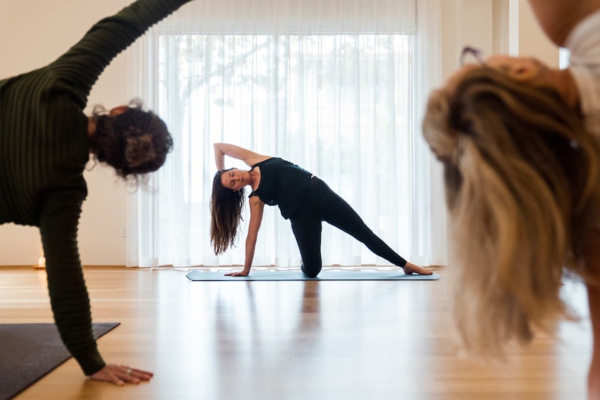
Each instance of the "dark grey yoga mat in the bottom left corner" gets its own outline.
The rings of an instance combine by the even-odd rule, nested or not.
[[[119,324],[93,323],[94,336]],[[12,399],[69,358],[54,323],[0,323],[0,400]]]

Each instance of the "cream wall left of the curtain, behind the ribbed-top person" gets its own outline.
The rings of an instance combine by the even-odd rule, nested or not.
[[[128,0],[0,0],[0,79],[42,67],[74,45],[98,20],[127,6]],[[94,86],[88,104],[107,108],[127,103],[127,57],[118,56]],[[85,265],[125,265],[125,185],[111,168],[86,172],[88,200],[79,225],[79,250]],[[1,193],[0,193],[1,195]],[[36,227],[0,226],[0,265],[38,263],[41,242]]]

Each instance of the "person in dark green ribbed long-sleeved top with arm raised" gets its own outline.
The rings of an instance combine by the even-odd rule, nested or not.
[[[0,224],[40,228],[54,321],[84,374],[97,381],[139,383],[152,373],[107,365],[97,350],[77,246],[84,168],[91,153],[137,183],[164,163],[173,141],[140,102],[96,107],[91,116],[84,109],[112,59],[188,1],[135,1],[53,63],[0,81]]]

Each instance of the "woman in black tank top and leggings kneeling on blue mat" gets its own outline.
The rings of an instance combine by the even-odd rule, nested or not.
[[[242,160],[251,169],[225,169],[225,156]],[[214,144],[214,158],[218,170],[212,182],[210,239],[216,255],[235,244],[244,209],[244,187],[252,189],[248,196],[250,221],[244,268],[226,275],[246,276],[250,273],[265,205],[277,205],[281,216],[290,219],[302,257],[301,270],[310,278],[315,278],[322,268],[322,221],[352,235],[376,255],[400,266],[404,273],[432,274],[432,271],[400,257],[365,225],[344,199],[307,170],[290,161],[228,143]]]

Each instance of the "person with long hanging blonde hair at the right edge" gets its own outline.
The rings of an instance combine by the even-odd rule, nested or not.
[[[587,285],[600,399],[600,1],[530,3],[569,68],[466,48],[478,63],[430,95],[423,134],[443,163],[465,346],[502,355],[574,319],[560,297],[569,269]]]

